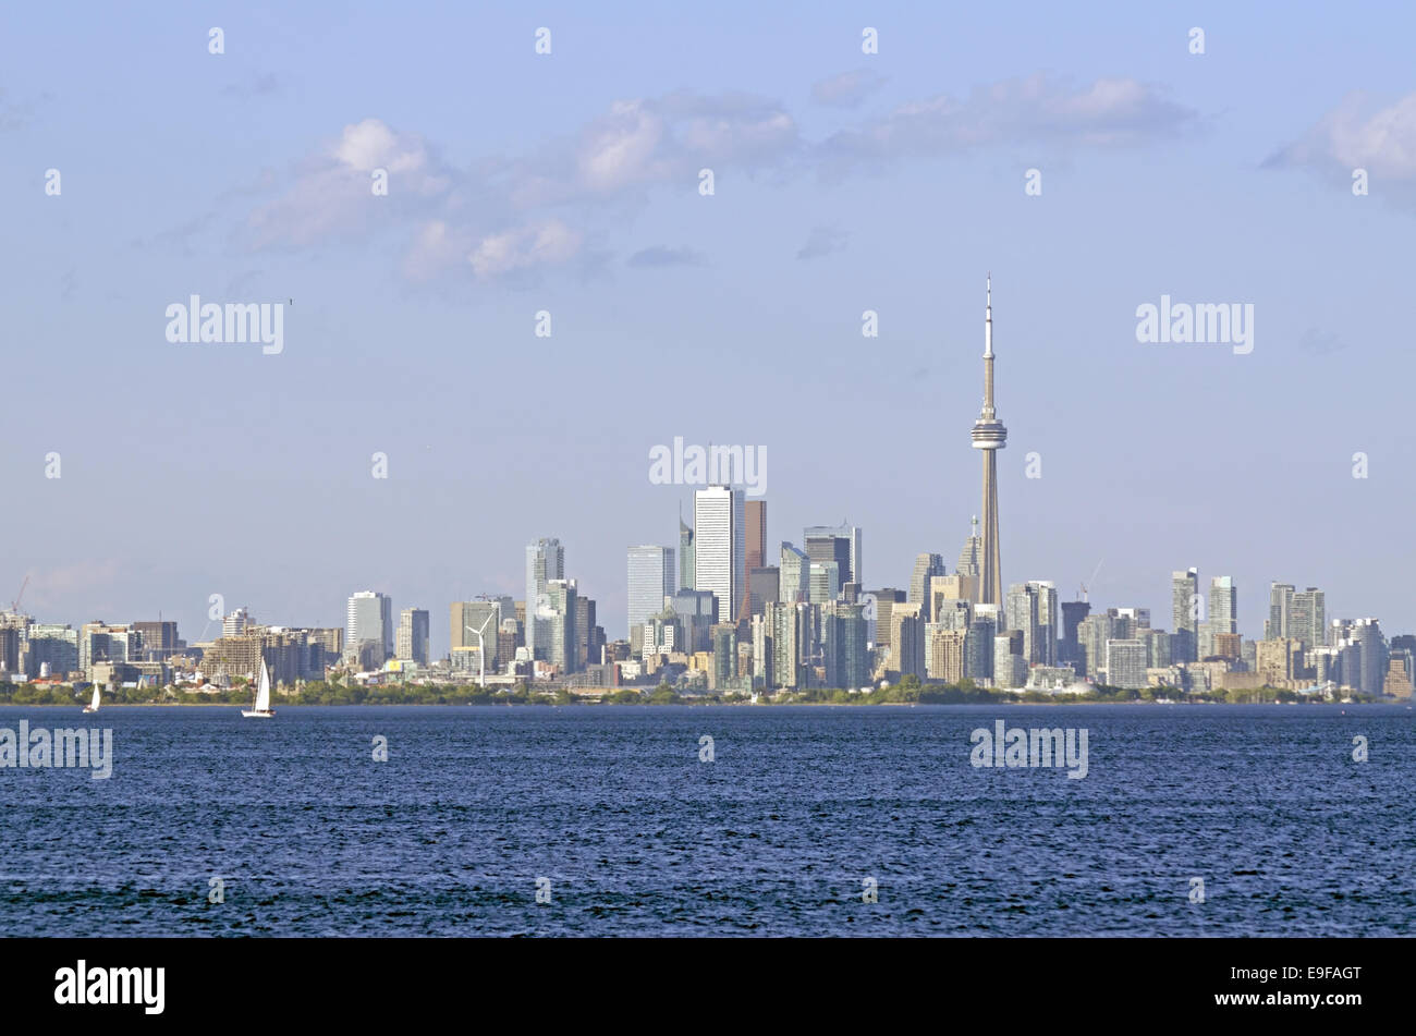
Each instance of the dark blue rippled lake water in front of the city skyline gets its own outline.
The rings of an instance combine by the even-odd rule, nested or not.
[[[1406,934],[1416,712],[1345,710],[4,708],[115,763],[0,770],[0,934]],[[995,719],[1087,777],[971,767]]]

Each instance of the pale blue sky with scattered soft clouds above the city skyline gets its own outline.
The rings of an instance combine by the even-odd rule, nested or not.
[[[765,447],[769,543],[844,518],[867,585],[905,587],[980,507],[991,270],[1005,583],[1072,599],[1100,563],[1093,607],[1170,628],[1194,565],[1235,576],[1247,637],[1270,580],[1410,631],[1413,30],[1362,3],[7,7],[0,600],[28,575],[40,620],[198,640],[212,593],[341,626],[378,589],[440,655],[447,604],[520,597],[558,536],[623,637],[626,548],[691,514],[649,480],[675,436]],[[290,303],[283,351],[170,344],[191,294]],[[1253,351],[1140,344],[1163,294],[1252,304]]]

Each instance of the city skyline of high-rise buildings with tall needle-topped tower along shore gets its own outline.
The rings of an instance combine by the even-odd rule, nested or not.
[[[1069,691],[1104,684],[1187,692],[1272,686],[1412,695],[1416,637],[1391,641],[1375,618],[1328,620],[1324,594],[1270,587],[1263,638],[1239,631],[1239,589],[1229,576],[1199,587],[1197,569],[1171,577],[1172,631],[1148,609],[1092,611],[1059,602],[1054,583],[1003,582],[997,453],[1007,429],[994,406],[993,289],[984,303],[984,398],[970,430],[983,460],[983,528],[950,573],[920,553],[905,589],[865,589],[861,529],[814,525],[801,545],[767,548],[767,501],[742,488],[694,493],[692,525],[677,546],[630,546],[627,638],[606,641],[596,603],[566,576],[565,548],[525,548],[525,594],[453,602],[446,658],[428,657],[428,611],[404,609],[394,627],[388,596],[348,599],[344,630],[259,626],[245,609],[221,637],[187,645],[174,623],[79,630],[0,614],[0,674],[92,682],[190,681],[224,686],[263,661],[278,684],[331,669],[360,679],[477,681],[602,689],[668,682],[681,692],[858,689],[913,677],[1001,689]],[[23,592],[23,587],[21,587]]]

